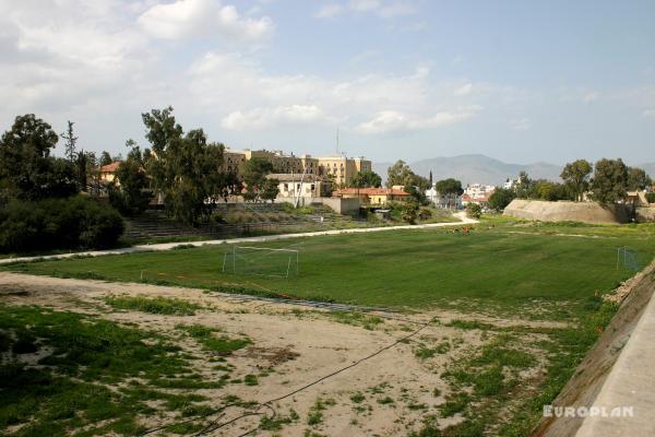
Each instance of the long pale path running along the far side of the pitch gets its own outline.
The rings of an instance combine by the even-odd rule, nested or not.
[[[279,239],[289,239],[289,238],[300,238],[300,237],[317,237],[321,235],[341,235],[341,234],[361,234],[361,233],[371,233],[371,232],[385,232],[385,231],[412,231],[412,229],[429,229],[432,227],[444,227],[444,226],[461,226],[463,224],[476,224],[479,223],[477,220],[468,218],[465,212],[458,212],[453,214],[453,216],[457,217],[461,222],[454,223],[429,223],[425,225],[403,225],[403,226],[389,226],[389,227],[361,227],[354,229],[333,229],[333,231],[318,231],[311,233],[300,233],[300,234],[279,234],[279,235],[267,235],[263,237],[247,237],[247,238],[230,238],[230,239],[212,239],[206,241],[177,241],[177,243],[163,243],[157,245],[142,245],[142,246],[133,246],[127,247],[122,249],[111,249],[111,250],[94,250],[94,251],[85,251],[85,252],[74,252],[74,253],[60,253],[60,255],[49,255],[44,257],[20,257],[20,258],[5,258],[0,259],[0,264],[8,264],[12,262],[26,262],[34,260],[46,260],[46,259],[66,259],[72,257],[103,257],[106,255],[123,255],[123,253],[133,253],[138,251],[150,251],[150,250],[170,250],[175,247],[184,245],[191,246],[205,246],[205,245],[223,245],[223,244],[235,244],[235,243],[264,243],[264,241],[275,241]]]

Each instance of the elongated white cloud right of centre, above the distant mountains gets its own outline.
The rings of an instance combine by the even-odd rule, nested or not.
[[[398,130],[430,129],[458,123],[471,119],[481,110],[480,106],[440,110],[434,115],[421,118],[397,110],[383,110],[371,120],[360,123],[357,130],[361,133],[385,133]]]

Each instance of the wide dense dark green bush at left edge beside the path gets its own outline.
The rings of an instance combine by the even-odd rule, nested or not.
[[[123,232],[110,206],[83,197],[25,202],[0,210],[0,251],[106,248]]]

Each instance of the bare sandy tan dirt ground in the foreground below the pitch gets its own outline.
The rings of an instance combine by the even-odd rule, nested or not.
[[[105,304],[106,297],[122,295],[176,297],[201,305],[202,309],[193,316],[164,316],[115,310]],[[485,341],[483,331],[444,326],[452,319],[467,319],[466,315],[456,312],[380,314],[383,322],[370,327],[348,324],[347,320],[344,322],[326,310],[242,299],[201,290],[4,272],[0,273],[0,303],[91,314],[162,333],[175,331],[178,323],[199,323],[221,328],[228,334],[247,335],[252,345],[235,352],[226,361],[234,366],[234,378],[258,375],[259,385],[228,385],[199,392],[217,402],[226,394],[261,403],[279,399],[270,402],[271,408],[262,408],[260,413],[271,416],[275,411],[279,417],[295,411],[299,417],[281,430],[260,430],[257,435],[407,435],[412,429],[420,428],[425,415],[437,415],[438,406],[445,402],[449,385],[440,375],[448,363],[469,354]],[[484,317],[476,317],[476,320],[497,326],[555,323]],[[405,340],[398,342],[402,339]],[[421,345],[443,342],[451,345],[444,353],[428,358],[416,354]],[[393,346],[385,349],[390,345]],[[195,355],[206,355],[192,344],[181,346]],[[216,378],[212,370],[216,363],[210,362],[210,356],[196,363],[198,370],[206,378]],[[353,364],[356,365],[289,395]],[[352,399],[357,393],[364,399]],[[308,417],[317,402],[322,404],[322,420],[309,424]],[[226,424],[243,412],[242,408],[228,409],[213,418],[217,424]],[[255,427],[261,417],[240,418],[209,435],[238,436]],[[448,426],[460,420],[455,415],[439,421],[440,426]],[[148,424],[153,425],[157,425],[156,421]]]

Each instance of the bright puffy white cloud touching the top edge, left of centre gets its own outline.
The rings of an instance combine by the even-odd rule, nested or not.
[[[152,36],[163,39],[222,36],[253,40],[273,31],[270,17],[243,17],[234,5],[218,0],[177,0],[159,3],[139,16],[141,26]]]

